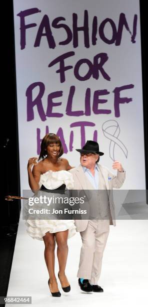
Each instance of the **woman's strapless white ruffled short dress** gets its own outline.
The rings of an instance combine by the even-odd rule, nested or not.
[[[65,184],[67,189],[73,188],[72,174],[67,171],[47,171],[40,175],[39,188],[43,185],[46,189],[54,190]],[[68,229],[68,239],[75,233],[73,220],[26,220],[26,231],[33,239],[43,241],[46,232],[55,233]]]

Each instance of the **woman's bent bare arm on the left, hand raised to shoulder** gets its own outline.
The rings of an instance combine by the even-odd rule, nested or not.
[[[27,172],[28,172],[28,183],[29,187],[33,193],[39,190],[39,179],[40,179],[40,166],[36,162],[37,158],[30,158],[27,164]],[[33,169],[31,171],[31,167],[33,165]]]

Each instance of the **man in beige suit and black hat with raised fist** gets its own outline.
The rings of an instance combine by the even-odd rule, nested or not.
[[[76,231],[80,232],[82,240],[78,284],[85,292],[103,292],[97,281],[109,225],[115,226],[112,188],[118,189],[122,186],[125,171],[117,161],[112,164],[112,168],[117,170],[116,176],[97,164],[103,152],[99,151],[99,145],[95,141],[87,140],[82,149],[76,150],[80,152],[80,165],[69,171],[73,175],[74,190],[89,190],[92,196],[88,219],[75,220]],[[91,190],[97,191],[92,193]]]

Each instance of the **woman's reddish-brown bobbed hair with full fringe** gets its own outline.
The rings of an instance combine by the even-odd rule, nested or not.
[[[61,141],[59,139],[59,137],[54,134],[54,133],[48,133],[46,134],[42,141],[41,141],[41,145],[40,145],[40,154],[39,154],[39,158],[38,158],[38,161],[40,159],[44,159],[46,156],[47,156],[47,152],[46,152],[46,147],[51,144],[51,143],[55,143],[55,144],[59,144],[60,145],[60,150],[59,150],[59,154],[58,154],[58,157],[61,157],[62,154],[63,154],[63,147],[62,147],[62,144],[61,144]]]

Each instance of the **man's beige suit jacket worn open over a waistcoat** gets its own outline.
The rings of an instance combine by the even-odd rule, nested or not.
[[[100,164],[98,164],[98,167],[99,167],[98,190],[104,189],[104,182],[105,182],[105,188],[108,194],[109,207],[110,207],[110,213],[111,213],[110,225],[115,226],[115,212],[114,212],[112,189],[113,188],[119,189],[122,186],[125,180],[125,171],[124,173],[117,171],[117,175],[114,176],[112,173],[110,173],[110,171],[106,167],[103,167]],[[69,172],[73,175],[73,180],[74,180],[73,190],[94,190],[93,186],[91,185],[89,180],[86,178],[81,165],[69,170]],[[103,181],[102,181],[102,177],[104,179]],[[88,224],[88,220],[86,219],[75,220],[76,231],[79,231],[79,232],[84,231],[87,227],[87,224]]]

